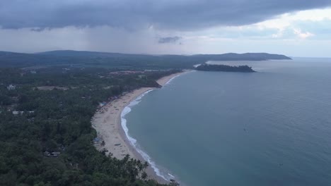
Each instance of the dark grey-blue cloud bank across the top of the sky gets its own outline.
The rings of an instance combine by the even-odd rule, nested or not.
[[[281,13],[330,5],[331,0],[1,0],[0,25],[199,30],[217,25],[248,25]]]

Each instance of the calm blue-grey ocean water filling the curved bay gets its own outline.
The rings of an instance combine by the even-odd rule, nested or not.
[[[331,185],[331,59],[209,63],[258,72],[186,73],[123,116],[159,174],[190,186]]]

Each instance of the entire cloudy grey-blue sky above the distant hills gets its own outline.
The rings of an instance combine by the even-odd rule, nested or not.
[[[1,0],[0,51],[331,57],[331,0]]]

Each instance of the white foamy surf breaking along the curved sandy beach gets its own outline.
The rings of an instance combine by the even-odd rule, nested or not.
[[[175,77],[177,77],[177,76],[175,76]],[[173,78],[171,78],[171,80]],[[153,89],[145,92],[144,94],[141,94],[139,97],[137,97],[137,99],[134,99],[134,101],[130,102],[129,105],[126,106],[123,109],[123,111],[121,113],[121,125],[122,125],[122,128],[125,132],[125,135],[127,136],[127,139],[129,140],[130,144],[144,158],[145,161],[149,162],[149,164],[151,165],[151,167],[155,171],[156,175],[163,178],[164,180],[170,181],[170,179],[174,179],[175,177],[173,175],[171,175],[170,173],[168,173],[168,175],[165,175],[164,173],[161,173],[160,169],[156,166],[156,163],[154,161],[152,161],[151,157],[148,154],[146,154],[146,152],[144,152],[143,150],[141,150],[139,148],[139,144],[137,143],[137,140],[129,135],[129,129],[127,128],[127,120],[124,118],[124,116],[127,115],[127,113],[129,113],[131,111],[131,107],[134,106],[134,105],[139,104],[139,102],[141,101],[141,98],[144,97],[144,95],[146,95],[147,93],[149,93],[151,91],[153,91]]]

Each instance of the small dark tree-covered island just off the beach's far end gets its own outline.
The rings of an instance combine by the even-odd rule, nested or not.
[[[222,72],[240,72],[240,73],[255,73],[250,66],[226,66],[226,65],[211,65],[202,64],[197,66],[195,70],[201,71],[222,71]]]

